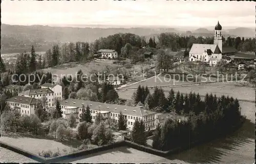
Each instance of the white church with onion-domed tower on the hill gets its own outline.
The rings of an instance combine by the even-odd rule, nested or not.
[[[193,44],[189,51],[189,61],[219,62],[223,54],[221,30],[222,27],[218,21],[215,26],[214,44]]]

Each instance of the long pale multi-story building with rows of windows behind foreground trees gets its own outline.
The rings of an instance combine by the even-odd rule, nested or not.
[[[124,119],[127,120],[127,128],[132,129],[135,120],[143,120],[146,130],[154,130],[156,128],[156,112],[145,110],[143,107],[124,106],[117,104],[100,103],[78,99],[67,99],[60,103],[63,111],[63,118],[68,119],[71,114],[74,114],[79,120],[82,105],[87,107],[89,105],[90,111],[95,120],[96,114],[100,113],[104,119],[110,122],[117,123],[120,112],[122,112]]]

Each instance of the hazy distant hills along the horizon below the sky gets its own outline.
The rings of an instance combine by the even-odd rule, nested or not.
[[[254,37],[254,29],[237,28],[223,31],[226,36],[250,36]],[[87,41],[93,42],[100,37],[106,37],[116,33],[133,33],[145,36],[146,39],[157,36],[160,33],[173,32],[180,35],[212,36],[214,30],[200,28],[186,33],[186,31],[175,28],[77,28],[77,27],[50,27],[50,26],[1,26],[1,53],[18,53],[28,51],[31,45],[35,45],[36,50],[46,51],[54,43]],[[156,38],[157,39],[157,38]]]

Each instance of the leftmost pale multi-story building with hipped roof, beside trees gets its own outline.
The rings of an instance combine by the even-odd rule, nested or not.
[[[11,107],[11,109],[17,109],[21,114],[35,114],[36,103],[40,100],[25,97],[25,96],[15,96],[6,100],[6,103]]]

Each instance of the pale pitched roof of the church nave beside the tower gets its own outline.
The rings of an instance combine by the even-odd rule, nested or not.
[[[221,54],[219,46],[217,44],[193,44],[189,53],[204,53],[211,51],[211,54]],[[207,53],[208,53],[207,52]]]

